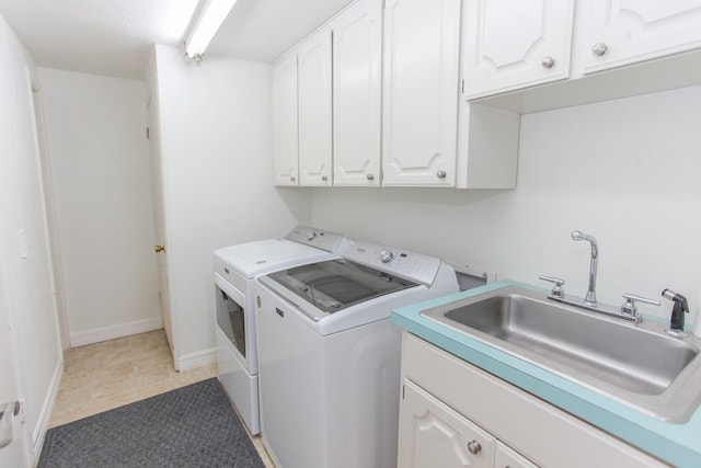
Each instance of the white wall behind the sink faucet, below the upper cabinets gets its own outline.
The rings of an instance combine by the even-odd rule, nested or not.
[[[521,117],[514,191],[314,190],[315,226],[494,271],[587,287],[600,249],[598,298],[663,288],[701,303],[701,87]],[[667,318],[662,308],[644,312]],[[693,321],[693,315],[688,320]]]

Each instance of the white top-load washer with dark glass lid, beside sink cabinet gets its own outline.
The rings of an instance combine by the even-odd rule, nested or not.
[[[343,259],[260,276],[261,432],[281,468],[395,467],[393,308],[457,293],[441,260],[356,241]]]

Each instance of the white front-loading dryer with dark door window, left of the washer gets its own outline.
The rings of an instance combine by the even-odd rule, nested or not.
[[[343,236],[298,226],[284,239],[266,239],[214,252],[219,380],[252,434],[260,432],[255,277],[276,270],[338,258]]]

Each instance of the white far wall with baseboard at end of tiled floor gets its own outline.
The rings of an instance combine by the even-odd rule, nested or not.
[[[146,85],[39,76],[71,345],[159,329]]]

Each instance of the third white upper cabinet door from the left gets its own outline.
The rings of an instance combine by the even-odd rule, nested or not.
[[[380,184],[382,3],[365,0],[333,28],[334,185]]]

